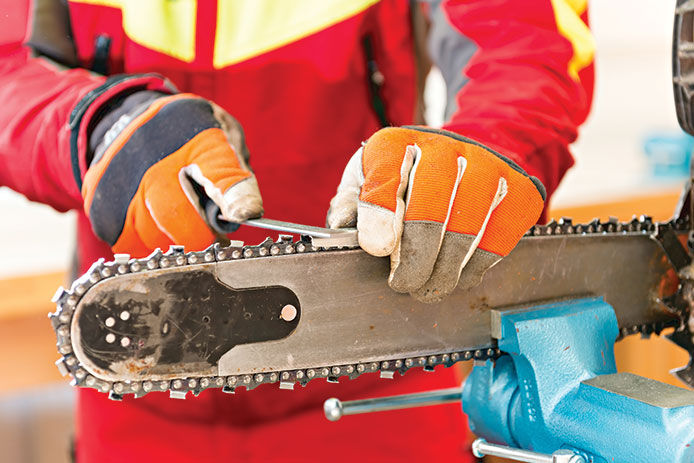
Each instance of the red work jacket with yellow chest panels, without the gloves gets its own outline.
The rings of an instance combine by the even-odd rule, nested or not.
[[[306,0],[303,10],[295,2],[266,0],[70,0],[69,23],[48,26],[43,19],[59,15],[43,16],[31,3],[0,3],[0,185],[60,211],[82,208],[72,175],[70,113],[104,77],[60,70],[32,57],[27,43],[43,55],[110,74],[159,73],[180,90],[223,106],[244,126],[272,218],[324,223],[342,169],[359,143],[384,123],[417,122],[421,78],[407,0]],[[457,35],[475,50],[446,128],[513,158],[550,193],[573,162],[568,145],[591,101],[592,45],[581,3],[450,2],[441,16],[449,33],[439,49]],[[65,32],[50,34],[61,24],[70,41]],[[457,46],[449,50],[455,54]],[[462,76],[459,67],[452,75]],[[120,88],[162,85],[158,77],[145,81],[126,81]],[[84,127],[91,116],[85,115]],[[86,129],[78,135],[73,141],[81,148],[83,174]],[[110,256],[83,214],[78,233],[82,270]],[[339,423],[322,418],[321,403],[329,396],[403,393],[453,381],[451,370],[412,372],[390,382],[314,381],[294,392],[264,386],[235,396],[205,391],[186,401],[151,393],[122,403],[80,391],[77,457],[471,461],[463,450],[459,406]]]

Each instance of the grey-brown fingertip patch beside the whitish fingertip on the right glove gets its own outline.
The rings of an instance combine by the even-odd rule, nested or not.
[[[438,222],[405,222],[400,263],[392,270],[391,288],[409,293],[427,282],[436,262],[442,228]]]

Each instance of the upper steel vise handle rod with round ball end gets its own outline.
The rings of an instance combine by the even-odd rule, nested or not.
[[[337,421],[344,415],[357,415],[360,413],[383,412],[387,410],[399,410],[401,408],[425,407],[451,402],[460,402],[461,389],[441,389],[439,391],[419,392],[416,394],[395,395],[390,397],[378,397],[375,399],[350,400],[342,402],[339,399],[328,399],[323,404],[325,417],[330,421]]]

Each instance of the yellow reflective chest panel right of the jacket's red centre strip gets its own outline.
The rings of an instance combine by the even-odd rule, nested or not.
[[[214,67],[249,59],[354,16],[378,0],[218,0]]]

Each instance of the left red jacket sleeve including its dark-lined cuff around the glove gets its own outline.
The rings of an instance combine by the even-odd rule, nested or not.
[[[175,89],[154,74],[107,79],[33,57],[25,43],[42,21],[32,3],[0,0],[0,186],[59,211],[79,209],[89,129],[120,95]]]

